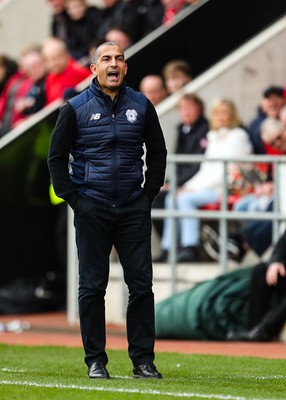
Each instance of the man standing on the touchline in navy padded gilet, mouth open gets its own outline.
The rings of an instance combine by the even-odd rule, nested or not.
[[[60,110],[48,155],[55,192],[74,210],[88,376],[109,378],[104,297],[114,245],[129,290],[126,324],[133,376],[162,378],[153,364],[151,203],[164,183],[165,141],[154,106],[124,83],[127,65],[116,43],[100,45],[90,69],[95,76],[91,85]]]

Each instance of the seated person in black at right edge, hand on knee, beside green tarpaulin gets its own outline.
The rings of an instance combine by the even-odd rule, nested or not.
[[[285,321],[286,232],[276,243],[270,259],[253,268],[246,330],[229,332],[227,340],[269,342],[277,339]]]

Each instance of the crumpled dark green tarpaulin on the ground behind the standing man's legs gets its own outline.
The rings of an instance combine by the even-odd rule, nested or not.
[[[224,340],[229,330],[243,330],[251,271],[228,272],[158,303],[156,337]]]

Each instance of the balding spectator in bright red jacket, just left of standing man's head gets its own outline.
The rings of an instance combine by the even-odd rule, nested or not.
[[[63,98],[65,90],[75,87],[87,77],[90,70],[74,60],[65,43],[57,38],[47,38],[43,56],[48,70],[46,78],[46,104]]]

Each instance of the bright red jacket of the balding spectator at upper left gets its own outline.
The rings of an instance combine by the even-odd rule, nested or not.
[[[66,89],[75,87],[88,76],[91,76],[89,68],[86,68],[70,59],[66,69],[59,73],[50,73],[46,78],[46,104],[62,98]]]

